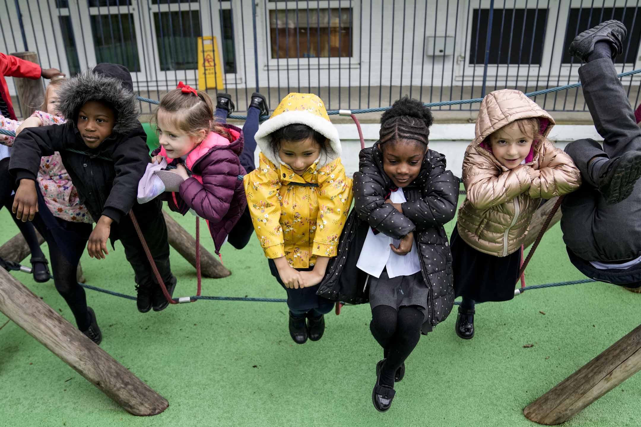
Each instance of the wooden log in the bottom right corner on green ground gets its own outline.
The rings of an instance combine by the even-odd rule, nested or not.
[[[564,423],[641,370],[641,325],[528,405],[523,414],[538,424]]]

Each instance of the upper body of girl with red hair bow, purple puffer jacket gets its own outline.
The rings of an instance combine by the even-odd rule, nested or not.
[[[163,158],[185,181],[171,193],[169,206],[183,215],[189,209],[207,220],[219,254],[222,243],[247,205],[243,184],[245,174],[238,156],[243,138],[233,125],[217,124],[212,99],[200,90],[183,85],[167,93],[154,113]]]

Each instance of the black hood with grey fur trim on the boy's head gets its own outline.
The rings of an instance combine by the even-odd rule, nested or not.
[[[58,92],[58,108],[67,123],[76,127],[78,110],[88,101],[110,104],[116,112],[114,134],[126,135],[140,126],[140,110],[129,70],[118,64],[100,63],[65,81]]]

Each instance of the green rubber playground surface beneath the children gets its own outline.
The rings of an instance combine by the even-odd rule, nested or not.
[[[194,233],[193,216],[174,218]],[[16,232],[3,209],[0,241]],[[203,244],[213,252],[211,239]],[[256,239],[242,252],[225,245],[222,255],[233,274],[204,280],[204,295],[285,296]],[[196,271],[171,256],[175,296],[195,294]],[[120,244],[104,261],[81,262],[88,284],[135,293]],[[53,280],[14,275],[72,321]],[[526,277],[528,285],[585,278],[568,261],[558,225]],[[369,305],[329,314],[322,340],[301,346],[288,335],[285,303],[199,301],[141,314],[130,300],[96,291],[87,298],[101,347],[169,408],[129,415],[0,314],[0,426],[535,426],[523,408],[638,326],[641,307],[641,294],[603,283],[534,289],[478,305],[470,341],[456,337],[451,314],[421,337],[392,408],[379,414],[371,392],[382,351],[369,332]],[[638,426],[640,401],[638,374],[565,425]]]

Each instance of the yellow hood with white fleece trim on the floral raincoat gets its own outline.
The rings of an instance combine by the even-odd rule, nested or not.
[[[278,104],[271,117],[260,125],[254,137],[260,151],[274,165],[285,165],[285,163],[271,149],[269,134],[295,123],[308,125],[328,139],[328,152],[327,154],[321,153],[317,161],[319,168],[329,165],[329,163],[340,157],[342,148],[340,146],[340,138],[338,138],[338,130],[329,121],[329,116],[322,100],[313,93],[289,93]]]

